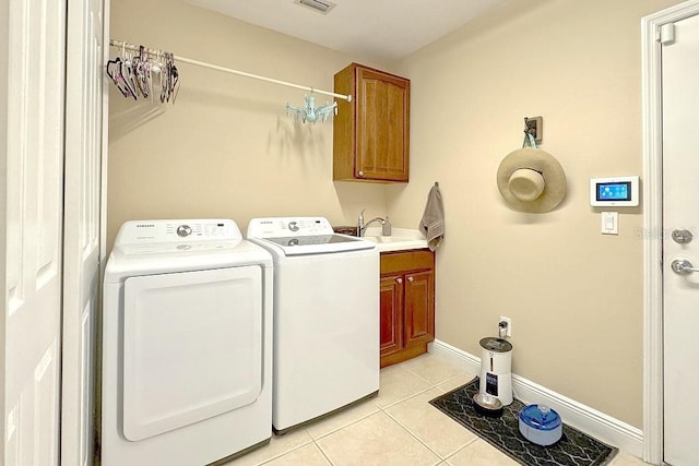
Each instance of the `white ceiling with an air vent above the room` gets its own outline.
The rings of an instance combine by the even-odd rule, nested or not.
[[[294,0],[187,1],[348,55],[395,60],[505,0],[321,0],[336,4],[328,14]]]

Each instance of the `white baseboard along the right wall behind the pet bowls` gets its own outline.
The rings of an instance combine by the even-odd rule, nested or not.
[[[481,357],[436,339],[429,353],[447,356],[464,370],[478,374]],[[512,374],[512,389],[517,397],[526,404],[546,404],[556,409],[564,422],[636,457],[643,456],[643,431],[599,410],[550,391],[530,380]]]

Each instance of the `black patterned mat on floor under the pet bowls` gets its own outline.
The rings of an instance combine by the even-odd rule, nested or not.
[[[550,446],[540,446],[520,433],[519,414],[524,406],[514,399],[499,418],[475,411],[473,395],[478,392],[478,378],[429,403],[493,446],[523,465],[606,465],[617,449],[564,423],[561,439]]]

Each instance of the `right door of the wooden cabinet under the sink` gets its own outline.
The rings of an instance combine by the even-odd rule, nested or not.
[[[435,275],[431,271],[405,275],[405,347],[435,339]]]

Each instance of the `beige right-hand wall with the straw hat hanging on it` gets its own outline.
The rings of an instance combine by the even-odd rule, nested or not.
[[[437,337],[473,355],[512,318],[513,371],[642,426],[641,207],[600,234],[591,177],[642,175],[640,19],[673,0],[514,1],[407,58],[411,183],[389,211],[414,224],[439,181]],[[568,195],[548,214],[509,210],[495,182],[543,116],[542,148]]]

